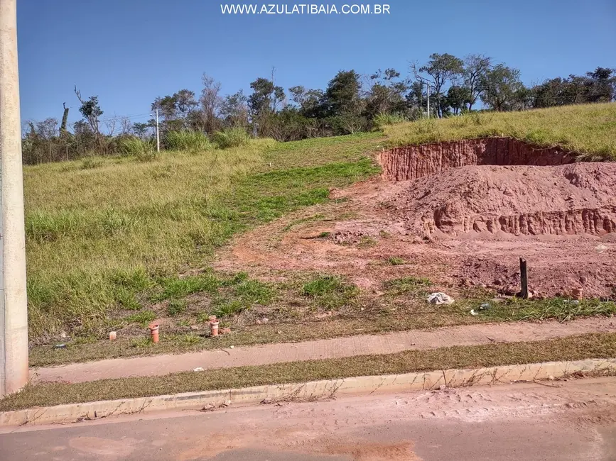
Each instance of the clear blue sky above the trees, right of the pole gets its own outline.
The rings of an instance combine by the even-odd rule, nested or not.
[[[74,84],[99,96],[105,118],[148,112],[178,89],[198,93],[203,72],[225,94],[249,91],[272,66],[285,89],[323,88],[338,70],[406,74],[433,52],[490,55],[526,84],[616,67],[615,0],[384,0],[386,16],[223,16],[221,3],[237,2],[18,0],[21,118],[61,118],[65,101],[77,120]],[[308,0],[286,1],[296,3]]]

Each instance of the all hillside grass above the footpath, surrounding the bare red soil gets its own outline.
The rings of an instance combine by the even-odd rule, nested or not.
[[[384,145],[510,135],[560,143],[588,158],[616,155],[615,104],[474,113],[384,129],[387,138],[252,140],[240,148],[163,152],[149,161],[107,157],[24,167],[32,364],[616,311],[613,303],[588,301],[575,311],[546,301],[504,304],[470,317],[468,311],[491,296],[470,294],[434,316],[417,290],[407,296],[404,282],[389,281],[383,287],[388,295],[375,302],[345,280],[332,284],[328,274],[264,283],[208,268],[232,236],[303,207],[326,206],[331,187],[377,174],[370,154]],[[303,313],[332,311],[337,316],[319,328],[304,322]],[[211,313],[234,319],[239,328],[232,339],[211,343],[191,331]],[[276,322],[256,328],[250,322],[257,315]],[[143,338],[145,327],[161,317],[173,328],[153,348]],[[121,328],[136,339],[128,334],[116,343],[100,341]],[[60,342],[67,348],[50,346]]]

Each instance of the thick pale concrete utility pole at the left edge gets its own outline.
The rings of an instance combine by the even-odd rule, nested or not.
[[[0,397],[28,382],[16,0],[0,0]]]

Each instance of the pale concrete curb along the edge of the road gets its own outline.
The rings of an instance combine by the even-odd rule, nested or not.
[[[509,384],[537,379],[557,379],[576,372],[595,374],[616,372],[616,359],[588,359],[576,362],[545,362],[470,370],[362,376],[302,384],[277,384],[48,406],[0,413],[0,426],[70,423],[120,414],[198,410],[204,407],[215,409],[218,406],[251,405],[263,401],[313,401],[352,394],[439,389],[441,386]]]

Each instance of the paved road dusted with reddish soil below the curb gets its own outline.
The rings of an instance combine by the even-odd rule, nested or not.
[[[0,460],[616,460],[616,378],[125,416],[0,434]]]

